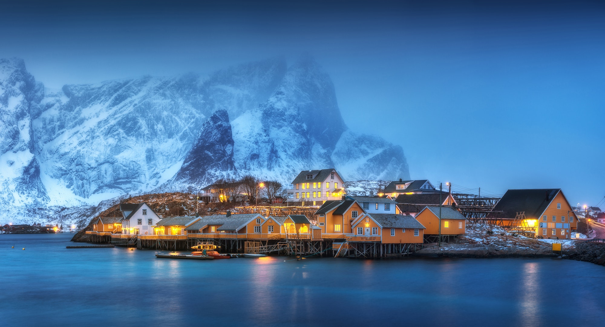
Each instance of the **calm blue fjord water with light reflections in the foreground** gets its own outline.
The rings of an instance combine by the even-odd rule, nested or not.
[[[156,259],[149,250],[67,249],[71,236],[0,235],[0,325],[603,326],[605,321],[600,286],[605,268],[586,262],[185,261]]]

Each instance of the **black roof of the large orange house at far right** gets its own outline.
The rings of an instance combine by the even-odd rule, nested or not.
[[[499,218],[514,219],[517,212],[525,212],[526,218],[540,218],[546,207],[561,189],[507,190],[492,211],[500,212]],[[489,213],[495,216],[497,213]]]

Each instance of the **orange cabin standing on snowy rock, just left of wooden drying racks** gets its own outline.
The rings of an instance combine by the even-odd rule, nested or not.
[[[441,230],[439,231],[439,210]],[[427,206],[415,216],[420,224],[427,227],[425,235],[462,235],[466,233],[466,217],[452,207]]]

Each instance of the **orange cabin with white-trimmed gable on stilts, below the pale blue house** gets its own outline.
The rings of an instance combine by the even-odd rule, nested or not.
[[[360,216],[352,223],[352,241],[380,241],[382,244],[424,242],[424,225],[412,216],[373,213]]]

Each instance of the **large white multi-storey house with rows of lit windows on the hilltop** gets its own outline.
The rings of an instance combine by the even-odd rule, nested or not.
[[[292,189],[287,190],[294,202],[313,202],[320,205],[324,201],[340,200],[345,194],[344,182],[335,169],[302,170],[292,181]]]

